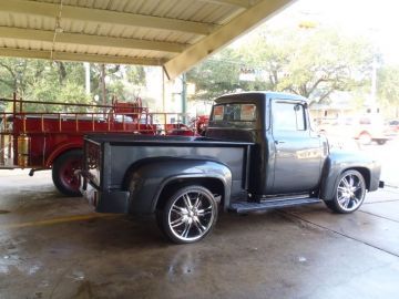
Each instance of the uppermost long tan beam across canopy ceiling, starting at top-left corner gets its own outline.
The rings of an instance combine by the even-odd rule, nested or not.
[[[234,2],[234,0],[231,1]],[[48,17],[54,19],[60,13],[60,4],[25,0],[0,0],[0,11]],[[170,18],[117,12],[104,9],[73,7],[65,4],[62,6],[61,20],[62,19],[79,20],[83,22],[95,22],[99,24],[106,23],[150,28],[157,30],[163,29],[200,35],[207,35],[216,28],[218,28],[217,25],[209,23],[192,22]]]

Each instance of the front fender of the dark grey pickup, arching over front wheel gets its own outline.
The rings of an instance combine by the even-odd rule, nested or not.
[[[319,195],[321,199],[334,198],[339,176],[348,169],[359,171],[364,175],[369,192],[378,188],[381,166],[375,158],[361,152],[334,151],[323,167]]]

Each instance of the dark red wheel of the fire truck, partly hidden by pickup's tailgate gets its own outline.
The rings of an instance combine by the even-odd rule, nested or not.
[[[81,196],[79,177],[74,175],[82,167],[82,150],[72,150],[60,155],[53,163],[52,179],[55,187],[66,196]]]

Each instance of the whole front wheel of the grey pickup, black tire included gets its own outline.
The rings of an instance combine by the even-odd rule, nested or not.
[[[325,200],[331,210],[349,214],[357,210],[365,200],[366,183],[358,171],[346,171],[338,179],[332,200]]]

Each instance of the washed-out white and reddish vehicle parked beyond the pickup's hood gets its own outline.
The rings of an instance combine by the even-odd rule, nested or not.
[[[318,131],[334,138],[355,138],[360,144],[386,144],[393,136],[379,115],[319,120]]]

